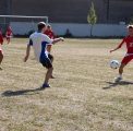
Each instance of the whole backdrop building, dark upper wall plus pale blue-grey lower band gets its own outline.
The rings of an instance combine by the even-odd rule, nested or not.
[[[124,36],[126,24],[133,17],[133,0],[0,0],[0,15],[48,16],[57,35],[64,35],[69,29],[73,36],[87,37],[90,36],[87,14],[92,1],[98,20],[93,35]],[[3,32],[9,23],[15,35],[26,35],[36,29],[37,21],[0,17]]]

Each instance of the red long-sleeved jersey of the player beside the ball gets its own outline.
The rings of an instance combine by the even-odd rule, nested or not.
[[[125,38],[123,38],[119,47],[121,47],[124,43],[126,44],[126,53],[133,53],[133,36],[126,36]]]

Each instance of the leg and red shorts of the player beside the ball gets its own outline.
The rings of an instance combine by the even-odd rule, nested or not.
[[[122,61],[121,61],[121,66],[119,68],[119,76],[116,78],[116,82],[119,82],[122,80],[122,74],[123,74],[123,69],[124,67],[133,59],[133,56],[125,56]]]

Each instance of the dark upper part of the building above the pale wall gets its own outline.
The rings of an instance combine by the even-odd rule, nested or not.
[[[129,22],[133,0],[93,0],[98,23]],[[0,14],[47,15],[52,23],[87,23],[92,0],[0,0]]]

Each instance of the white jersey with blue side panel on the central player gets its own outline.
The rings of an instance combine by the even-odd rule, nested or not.
[[[34,48],[34,53],[37,61],[41,58],[48,58],[47,45],[52,45],[53,39],[50,39],[47,35],[43,33],[33,33],[29,36],[29,44]]]

